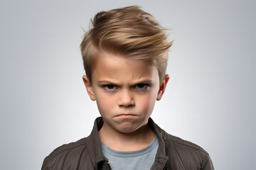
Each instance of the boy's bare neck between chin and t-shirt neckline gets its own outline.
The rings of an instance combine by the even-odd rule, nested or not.
[[[134,132],[119,132],[110,128],[107,124],[103,124],[99,135],[100,140],[105,143],[105,145],[117,151],[143,149],[149,145],[156,136],[148,123]]]

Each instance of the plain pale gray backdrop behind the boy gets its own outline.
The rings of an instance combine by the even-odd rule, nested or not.
[[[102,10],[137,4],[170,28],[171,76],[152,118],[206,149],[215,169],[255,169],[255,1],[0,2],[0,165],[41,169],[90,134],[80,42]]]

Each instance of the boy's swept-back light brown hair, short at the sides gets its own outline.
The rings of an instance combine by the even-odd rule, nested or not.
[[[139,6],[97,13],[81,42],[82,60],[92,83],[92,69],[100,52],[123,55],[155,66],[162,81],[166,74],[169,47],[166,29]]]

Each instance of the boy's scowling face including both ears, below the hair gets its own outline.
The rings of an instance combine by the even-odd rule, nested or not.
[[[92,69],[92,84],[83,80],[107,125],[118,132],[134,132],[146,125],[169,77],[159,84],[156,67],[140,60],[101,54]]]

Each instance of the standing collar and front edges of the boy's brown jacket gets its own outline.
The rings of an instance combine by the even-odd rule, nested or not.
[[[107,162],[107,158],[105,158],[102,154],[102,147],[100,142],[99,130],[102,128],[103,119],[102,117],[96,118],[94,126],[92,128],[91,134],[87,137],[87,147],[90,155],[92,155],[92,159],[95,160],[95,167],[100,162]],[[149,118],[149,126],[155,132],[156,137],[159,140],[159,148],[156,152],[156,159],[152,167],[156,169],[164,169],[165,164],[168,162],[169,157],[166,156],[165,150],[165,140],[166,140],[166,132],[159,128],[154,121]]]

